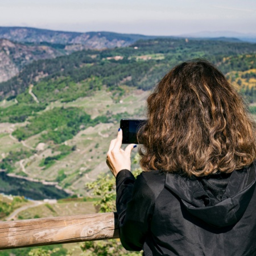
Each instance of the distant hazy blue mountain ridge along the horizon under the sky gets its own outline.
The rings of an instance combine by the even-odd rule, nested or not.
[[[256,42],[255,33],[235,31],[200,31],[176,36],[121,34],[115,32],[68,32],[32,27],[0,27],[0,38],[22,43],[75,44],[86,48],[102,49],[129,46],[137,40],[153,38],[237,38],[243,42]]]

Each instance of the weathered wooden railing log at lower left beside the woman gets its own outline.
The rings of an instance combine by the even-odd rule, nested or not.
[[[110,238],[118,238],[113,212],[0,222],[0,249]]]

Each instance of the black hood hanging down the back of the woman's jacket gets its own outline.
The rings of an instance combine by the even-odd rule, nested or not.
[[[197,178],[184,178],[179,174],[166,175],[165,187],[180,197],[193,216],[209,225],[222,228],[236,224],[250,203],[256,185],[256,163],[233,171],[219,203],[208,206],[208,193]]]

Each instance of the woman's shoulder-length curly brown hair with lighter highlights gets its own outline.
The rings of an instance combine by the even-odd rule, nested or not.
[[[138,134],[143,170],[205,176],[232,172],[256,158],[255,123],[241,96],[206,60],[173,68],[147,99]]]

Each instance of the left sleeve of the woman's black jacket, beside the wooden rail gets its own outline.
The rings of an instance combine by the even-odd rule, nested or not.
[[[154,194],[143,173],[135,179],[128,170],[118,173],[117,213],[119,237],[126,250],[140,251],[149,231]]]

